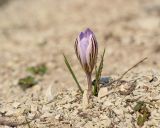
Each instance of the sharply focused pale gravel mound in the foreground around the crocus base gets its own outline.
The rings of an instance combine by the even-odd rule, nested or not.
[[[117,76],[118,78],[118,76]],[[160,74],[148,71],[130,73],[121,84],[112,84],[101,88],[98,97],[92,97],[88,108],[84,109],[82,95],[76,90],[63,90],[48,100],[45,95],[26,93],[15,97],[14,101],[1,100],[2,117],[19,123],[25,118],[31,127],[138,127],[140,112],[135,110],[139,102],[144,102],[149,118],[144,122],[145,128],[158,128],[160,125]],[[120,91],[125,82],[135,82],[136,87],[128,94]],[[131,84],[127,84],[131,87]],[[21,100],[19,100],[21,99]],[[21,127],[21,126],[19,126]]]

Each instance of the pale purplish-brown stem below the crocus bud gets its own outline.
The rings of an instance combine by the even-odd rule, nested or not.
[[[88,82],[88,100],[92,96],[92,77],[91,73],[87,73],[87,82]]]

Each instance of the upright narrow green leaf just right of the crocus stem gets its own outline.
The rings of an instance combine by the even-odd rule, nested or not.
[[[94,85],[94,91],[93,91],[95,96],[98,96],[98,92],[99,92],[99,81],[100,81],[101,73],[102,73],[102,69],[103,69],[104,55],[105,55],[105,49],[104,49],[103,54],[101,56],[101,61],[100,61],[100,64],[98,66],[98,69],[97,69],[97,67],[95,67],[95,70],[96,70],[96,84]]]

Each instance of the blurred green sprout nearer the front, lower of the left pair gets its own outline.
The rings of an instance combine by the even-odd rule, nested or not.
[[[35,80],[32,76],[27,76],[24,78],[19,79],[18,85],[23,89],[26,90],[27,88],[30,88],[34,85],[36,85],[38,82]]]

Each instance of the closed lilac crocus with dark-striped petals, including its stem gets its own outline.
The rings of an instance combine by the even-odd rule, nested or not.
[[[89,28],[87,28],[84,32],[81,32],[77,37],[75,41],[75,51],[77,58],[86,73],[88,80],[88,95],[91,96],[91,75],[97,61],[98,43],[94,33]]]

